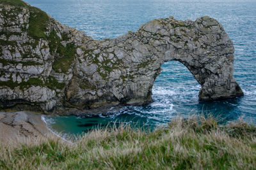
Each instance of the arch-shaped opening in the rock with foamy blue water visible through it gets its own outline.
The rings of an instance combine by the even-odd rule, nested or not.
[[[156,110],[167,109],[170,113],[188,113],[198,104],[200,88],[193,74],[181,62],[164,62],[152,87],[153,103],[150,105]]]

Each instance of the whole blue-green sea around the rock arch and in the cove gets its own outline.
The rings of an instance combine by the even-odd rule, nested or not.
[[[53,132],[64,136],[83,134],[106,124],[164,125],[173,117],[208,114],[223,124],[243,118],[256,122],[256,1],[184,0],[25,0],[62,24],[84,31],[95,39],[116,38],[136,31],[141,24],[171,15],[177,20],[195,20],[208,15],[224,27],[235,46],[234,76],[244,97],[200,102],[200,85],[177,61],[164,63],[152,93],[153,103],[127,106],[97,117],[42,117]]]

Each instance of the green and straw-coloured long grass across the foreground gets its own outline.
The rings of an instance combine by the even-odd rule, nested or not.
[[[10,141],[0,146],[0,169],[256,169],[256,127],[197,117],[152,132],[99,129],[74,144]]]

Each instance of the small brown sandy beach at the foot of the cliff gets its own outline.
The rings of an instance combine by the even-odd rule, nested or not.
[[[51,132],[41,117],[28,111],[0,112],[0,142],[47,136]]]

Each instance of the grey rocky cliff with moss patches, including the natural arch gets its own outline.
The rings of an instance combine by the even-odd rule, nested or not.
[[[14,3],[13,3],[14,2]],[[152,20],[136,32],[94,40],[22,1],[0,1],[0,108],[88,110],[152,101],[161,64],[179,60],[203,101],[243,96],[234,46],[210,17]]]

